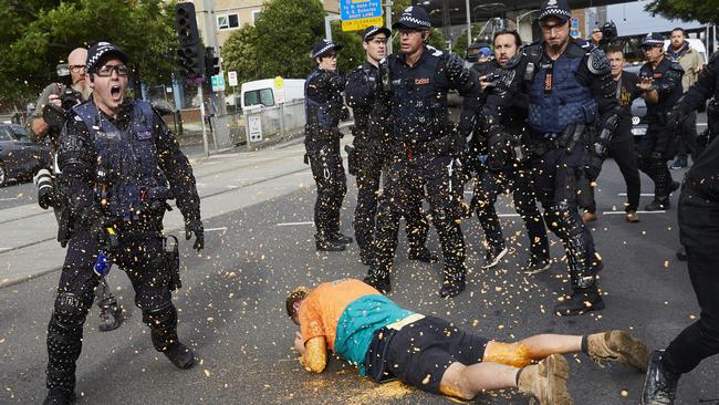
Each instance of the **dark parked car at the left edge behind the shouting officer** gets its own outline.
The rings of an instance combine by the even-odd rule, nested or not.
[[[29,180],[49,163],[50,148],[30,141],[25,127],[0,124],[0,187],[13,178]]]

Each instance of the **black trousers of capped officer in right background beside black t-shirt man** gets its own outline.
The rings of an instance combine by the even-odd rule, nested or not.
[[[665,143],[665,150],[659,150],[660,156],[652,157],[657,143],[660,142]],[[675,155],[676,144],[676,137],[670,131],[658,124],[649,124],[646,135],[642,137],[637,145],[639,169],[654,181],[654,196],[656,199],[669,198],[669,193],[671,193],[673,179],[667,162]]]

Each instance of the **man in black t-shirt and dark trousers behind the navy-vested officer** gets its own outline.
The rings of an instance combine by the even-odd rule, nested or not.
[[[638,222],[637,207],[639,206],[639,193],[642,184],[639,180],[639,168],[634,152],[634,138],[632,135],[632,102],[643,97],[652,82],[642,81],[634,73],[625,72],[624,53],[622,48],[611,45],[606,50],[606,56],[612,66],[612,79],[616,82],[616,97],[619,101],[619,123],[616,135],[612,138],[608,156],[619,166],[624,181],[627,186],[627,202],[625,207],[626,220]],[[596,179],[593,179],[596,180]],[[594,188],[592,188],[592,205],[584,208],[584,222],[596,220],[596,202],[594,201]]]

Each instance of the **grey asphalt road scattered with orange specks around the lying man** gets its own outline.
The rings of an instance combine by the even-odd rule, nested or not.
[[[673,172],[680,179],[684,170]],[[314,250],[312,204],[314,186],[309,168],[293,174],[304,187],[289,195],[207,220],[207,249],[201,255],[181,243],[184,288],[176,293],[179,336],[200,359],[189,371],[176,370],[154,351],[133,292],[122,270],[108,281],[124,307],[126,320],[112,332],[98,332],[97,309],[85,324],[77,364],[81,404],[448,404],[448,398],[398,383],[377,385],[355,370],[332,360],[320,374],[303,371],[291,350],[295,328],[284,313],[286,293],[299,284],[313,285],[338,278],[363,278],[356,243],[348,251]],[[205,183],[210,180],[204,180]],[[342,228],[352,233],[354,178],[342,211]],[[528,241],[521,220],[503,196],[498,202],[504,236],[511,248],[500,266],[481,270],[482,231],[477,217],[462,224],[468,245],[468,288],[459,297],[439,299],[441,264],[406,259],[405,238],[395,261],[399,304],[451,320],[472,333],[513,341],[536,333],[585,334],[611,329],[631,330],[652,347],[664,347],[698,316],[686,266],[675,259],[678,248],[676,205],[658,214],[639,214],[639,224],[624,220],[625,193],[616,165],[608,160],[600,178],[600,220],[592,225],[604,258],[601,287],[606,310],[576,318],[556,318],[558,294],[569,292],[563,250],[551,237],[553,268],[525,277]],[[28,185],[0,189],[0,208],[10,198],[33,198]],[[643,193],[653,193],[643,177]],[[649,202],[644,196],[642,205]],[[673,196],[673,204],[677,195]],[[28,200],[22,201],[28,204]],[[49,224],[48,226],[54,226]],[[1,238],[11,236],[3,235]],[[429,247],[439,252],[436,232]],[[41,251],[38,255],[42,255]],[[2,263],[0,263],[2,266]],[[32,266],[32,263],[28,263]],[[0,268],[1,271],[1,268]],[[46,324],[58,273],[0,289],[0,404],[40,403],[45,394]],[[601,367],[585,355],[567,356],[570,391],[575,404],[637,404],[644,375],[616,364]],[[719,404],[719,357],[699,365],[680,381],[677,404]],[[477,404],[525,404],[512,391],[481,395]]]

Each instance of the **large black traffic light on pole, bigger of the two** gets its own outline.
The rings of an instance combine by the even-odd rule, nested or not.
[[[194,3],[177,3],[175,7],[175,29],[179,40],[177,56],[183,75],[185,77],[201,76],[205,74],[205,54],[197,31]]]

